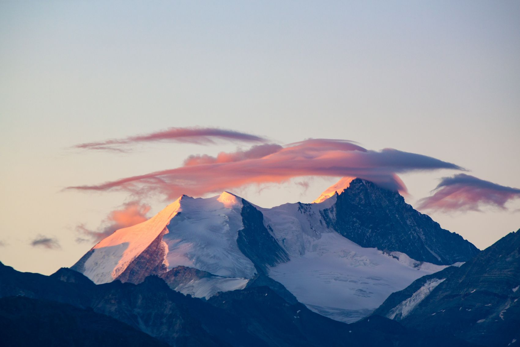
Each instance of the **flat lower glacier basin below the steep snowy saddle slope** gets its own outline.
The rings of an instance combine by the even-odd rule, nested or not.
[[[305,254],[270,269],[298,301],[319,314],[351,323],[368,316],[388,295],[446,266],[401,262],[375,248],[362,248],[335,232],[322,234]]]

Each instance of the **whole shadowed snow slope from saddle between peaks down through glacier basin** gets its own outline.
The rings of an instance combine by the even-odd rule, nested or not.
[[[311,310],[355,322],[392,292],[446,267],[413,261],[404,253],[385,254],[360,247],[324,226],[320,208],[326,209],[332,202],[329,200],[321,203],[323,206],[296,203],[263,210],[266,224],[291,257],[289,262],[270,268],[269,276]]]

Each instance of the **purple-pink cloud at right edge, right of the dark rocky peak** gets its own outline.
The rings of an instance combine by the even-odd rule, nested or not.
[[[466,174],[443,177],[431,197],[419,201],[419,209],[437,211],[480,211],[482,205],[506,210],[505,203],[520,198],[520,189]]]

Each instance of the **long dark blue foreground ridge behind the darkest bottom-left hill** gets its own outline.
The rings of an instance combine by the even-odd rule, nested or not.
[[[155,276],[141,284],[95,285],[62,268],[52,276],[0,263],[0,297],[24,295],[106,314],[172,346],[469,346],[407,329],[386,318],[346,325],[291,304],[268,287],[220,293],[208,302],[171,290]]]

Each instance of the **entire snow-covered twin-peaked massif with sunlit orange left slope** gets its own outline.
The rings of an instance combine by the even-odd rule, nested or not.
[[[117,230],[72,266],[96,284],[150,275],[210,299],[262,282],[342,322],[478,250],[394,191],[342,179],[321,202],[264,209],[229,192],[181,196],[150,220]],[[328,197],[328,198],[326,198]]]

